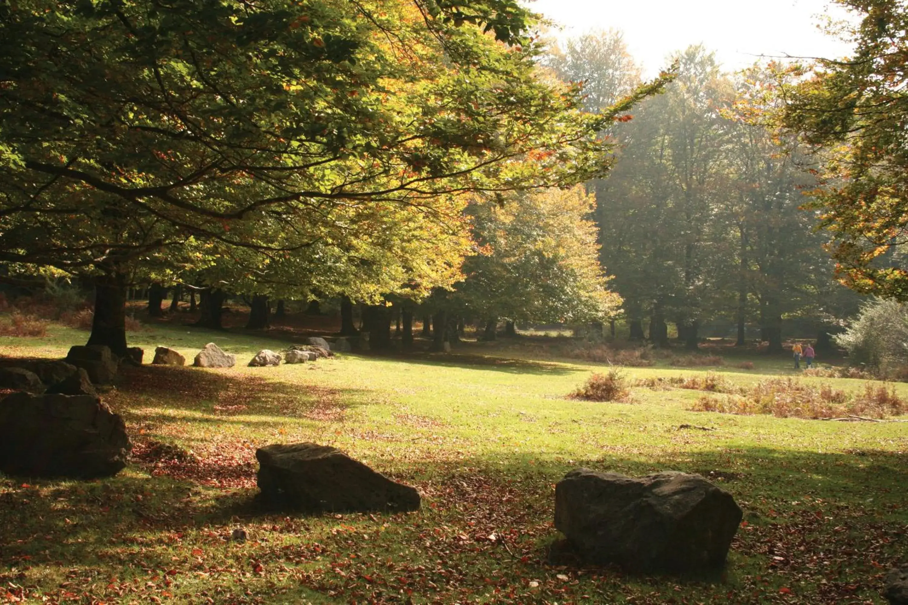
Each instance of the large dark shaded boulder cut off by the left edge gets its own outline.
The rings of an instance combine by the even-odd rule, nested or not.
[[[0,401],[0,471],[29,477],[112,476],[132,449],[123,418],[90,395],[15,393]]]

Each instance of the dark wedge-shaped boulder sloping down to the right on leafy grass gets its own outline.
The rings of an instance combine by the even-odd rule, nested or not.
[[[255,452],[265,503],[305,512],[417,511],[419,492],[391,481],[340,450],[274,444]]]

